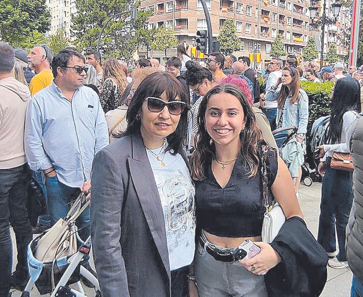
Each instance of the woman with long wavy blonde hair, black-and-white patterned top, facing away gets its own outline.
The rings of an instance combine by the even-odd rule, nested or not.
[[[103,111],[115,109],[126,89],[125,72],[116,59],[106,59],[102,66],[102,89],[100,99]]]

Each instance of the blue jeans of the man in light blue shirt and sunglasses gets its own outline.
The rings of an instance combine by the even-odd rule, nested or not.
[[[57,176],[46,176],[45,181],[48,193],[48,211],[53,220],[52,225],[54,225],[61,217],[67,215],[71,203],[81,194],[81,190],[62,184]],[[76,226],[79,229],[78,234],[83,241],[90,235],[89,223],[90,209],[87,207],[76,220]]]

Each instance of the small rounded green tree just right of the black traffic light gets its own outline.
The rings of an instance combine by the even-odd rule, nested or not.
[[[224,21],[223,27],[217,36],[220,51],[227,55],[241,49],[241,40],[236,34],[236,25],[233,19]]]

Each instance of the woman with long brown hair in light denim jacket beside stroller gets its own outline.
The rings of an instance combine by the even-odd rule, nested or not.
[[[282,70],[281,90],[277,96],[276,127],[298,127],[296,138],[282,149],[282,158],[289,159],[289,171],[295,179],[295,192],[298,196],[298,188],[301,180],[301,165],[304,163],[304,151],[306,150],[305,134],[309,119],[309,98],[300,88],[300,76],[297,70],[291,66]]]

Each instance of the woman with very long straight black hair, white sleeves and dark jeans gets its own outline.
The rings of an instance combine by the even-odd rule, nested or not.
[[[323,176],[319,217],[318,242],[331,258],[328,265],[333,268],[347,267],[345,249],[350,209],[353,203],[352,173],[330,167],[334,151],[349,152],[346,133],[355,120],[360,107],[360,86],[356,80],[340,78],[331,99],[329,129],[325,133],[324,145],[318,146],[320,156],[319,173]],[[335,244],[337,230],[339,253]]]

